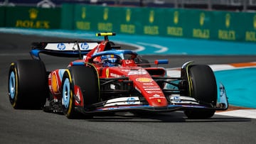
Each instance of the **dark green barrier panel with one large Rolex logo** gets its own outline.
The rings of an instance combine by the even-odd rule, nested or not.
[[[5,26],[16,28],[60,28],[60,8],[5,7]]]

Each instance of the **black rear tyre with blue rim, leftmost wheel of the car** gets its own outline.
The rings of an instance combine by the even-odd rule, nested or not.
[[[9,100],[14,109],[41,109],[48,91],[46,67],[40,60],[18,60],[9,69]]]

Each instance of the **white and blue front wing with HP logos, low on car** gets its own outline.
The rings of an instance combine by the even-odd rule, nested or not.
[[[119,112],[119,111],[152,111],[152,112],[172,112],[184,111],[187,109],[214,109],[216,111],[225,111],[228,109],[228,97],[225,92],[225,87],[220,84],[219,103],[215,107],[203,106],[189,96],[170,96],[170,104],[168,106],[149,106],[142,104],[139,97],[120,97],[104,101],[100,104],[95,104],[90,109],[85,109],[83,113],[104,113],[104,112]]]

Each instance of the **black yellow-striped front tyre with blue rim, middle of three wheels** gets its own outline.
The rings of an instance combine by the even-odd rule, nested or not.
[[[68,118],[78,118],[81,116],[82,111],[99,101],[99,79],[95,67],[85,65],[77,65],[69,67],[63,74],[62,81],[62,107],[63,113]],[[80,92],[78,92],[78,87]],[[78,94],[82,94],[82,99]],[[84,106],[82,109],[76,111],[78,106]],[[90,115],[86,115],[87,117]]]

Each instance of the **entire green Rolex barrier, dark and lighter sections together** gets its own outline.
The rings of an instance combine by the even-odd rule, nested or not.
[[[256,13],[63,4],[0,6],[0,26],[256,42]]]

